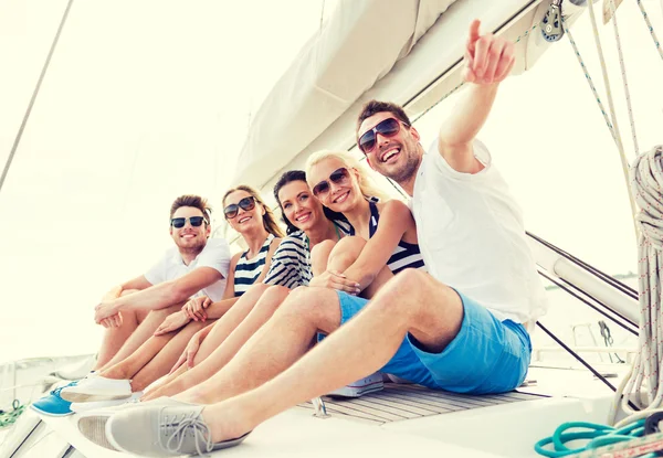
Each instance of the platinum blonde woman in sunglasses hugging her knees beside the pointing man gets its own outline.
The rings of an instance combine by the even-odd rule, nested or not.
[[[313,194],[352,226],[350,237],[314,251],[313,286],[347,278],[370,298],[400,270],[423,267],[410,210],[386,198],[348,152],[318,151],[308,158],[306,173]]]

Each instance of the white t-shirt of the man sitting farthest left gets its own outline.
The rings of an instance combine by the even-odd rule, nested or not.
[[[223,278],[196,292],[192,297],[207,296],[214,302],[223,299],[225,279],[230,268],[230,247],[224,238],[209,238],[202,252],[187,266],[177,246],[169,248],[166,255],[155,264],[145,278],[152,285],[179,278],[197,267],[211,267],[223,275]]]

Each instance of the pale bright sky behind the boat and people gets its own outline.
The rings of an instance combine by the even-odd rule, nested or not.
[[[168,207],[219,202],[251,116],[336,2],[74,2],[0,193],[0,363],[92,353],[93,310],[170,246]],[[657,1],[645,1],[663,34]],[[0,164],[64,11],[63,0],[0,0]],[[324,4],[324,11],[323,11]],[[619,12],[642,148],[660,143],[663,63],[634,2]],[[248,20],[250,19],[250,20]],[[588,14],[575,26],[602,92]],[[612,29],[602,28],[630,141]],[[417,127],[425,142],[448,99]],[[481,139],[529,231],[611,274],[635,270],[618,151],[565,39],[507,79]],[[217,216],[219,219],[219,216]]]

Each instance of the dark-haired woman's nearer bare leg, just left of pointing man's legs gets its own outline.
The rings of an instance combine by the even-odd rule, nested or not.
[[[242,321],[242,323],[235,328],[234,331],[221,343],[214,352],[204,359],[202,362],[198,362],[198,355],[196,366],[189,371],[182,373],[176,380],[171,381],[167,385],[162,385],[145,396],[145,401],[157,398],[160,396],[172,396],[185,390],[188,390],[197,384],[208,380],[210,376],[220,371],[228,362],[238,353],[244,343],[270,319],[276,311],[278,306],[290,294],[290,289],[282,286],[270,287],[260,298],[253,310]],[[238,302],[239,303],[239,302]],[[206,339],[207,341],[207,339]]]

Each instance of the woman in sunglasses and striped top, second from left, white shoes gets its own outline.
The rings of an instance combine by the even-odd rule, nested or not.
[[[64,388],[61,392],[63,400],[81,403],[72,405],[74,412],[91,408],[92,401],[127,401],[133,393],[141,392],[166,375],[197,331],[221,318],[252,285],[265,278],[283,237],[274,214],[259,192],[249,185],[228,190],[222,202],[225,221],[249,247],[231,258],[223,298],[218,302],[204,296],[189,300],[181,310],[169,315],[155,335],[131,355],[119,362],[112,361],[94,376]],[[202,331],[209,332],[211,328],[208,326]],[[176,330],[179,331],[176,333]]]

